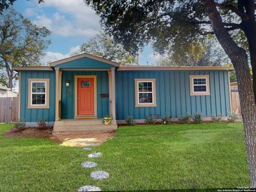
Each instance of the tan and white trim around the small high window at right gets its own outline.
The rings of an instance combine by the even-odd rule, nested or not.
[[[196,95],[210,95],[210,82],[209,82],[209,75],[191,75],[189,76],[190,79],[190,95],[196,96]],[[206,91],[194,91],[194,79],[205,79],[206,84],[203,84],[206,86]]]

